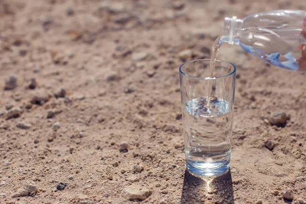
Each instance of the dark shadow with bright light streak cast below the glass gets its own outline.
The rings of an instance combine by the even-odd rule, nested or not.
[[[231,170],[219,177],[195,177],[185,170],[181,204],[235,203]]]

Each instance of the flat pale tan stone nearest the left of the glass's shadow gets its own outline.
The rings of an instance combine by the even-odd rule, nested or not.
[[[121,195],[127,200],[145,200],[148,198],[152,192],[144,187],[137,185],[131,185],[123,189]]]

